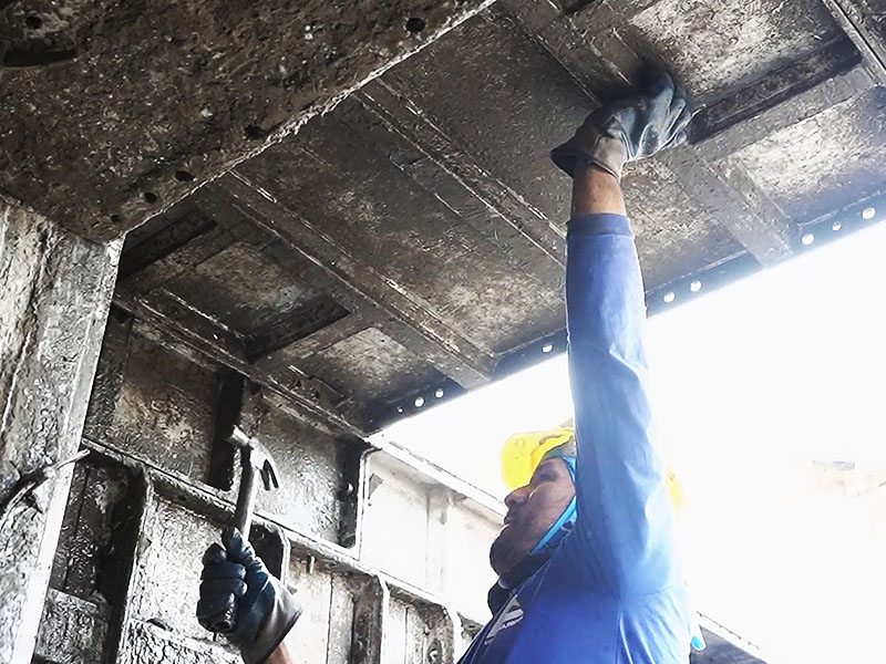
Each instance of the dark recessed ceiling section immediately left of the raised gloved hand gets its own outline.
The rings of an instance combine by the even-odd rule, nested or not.
[[[381,80],[446,133],[490,177],[557,225],[569,180],[547,153],[591,103],[559,63],[511,19],[478,15]]]

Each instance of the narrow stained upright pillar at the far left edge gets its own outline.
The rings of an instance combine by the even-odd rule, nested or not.
[[[119,256],[0,198],[3,663],[33,650]]]

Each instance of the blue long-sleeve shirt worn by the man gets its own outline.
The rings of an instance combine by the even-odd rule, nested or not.
[[[650,442],[642,278],[627,218],[569,222],[577,518],[462,664],[686,664],[690,610]]]

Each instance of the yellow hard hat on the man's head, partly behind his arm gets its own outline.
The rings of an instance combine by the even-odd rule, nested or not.
[[[502,479],[513,491],[529,484],[533,473],[545,455],[560,445],[575,440],[575,428],[559,426],[543,432],[523,432],[507,438],[502,446]],[[676,511],[681,511],[686,496],[677,474],[668,466],[664,469],[664,484]]]

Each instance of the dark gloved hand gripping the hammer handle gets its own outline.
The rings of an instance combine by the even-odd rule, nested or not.
[[[223,632],[240,646],[246,664],[258,664],[280,644],[296,624],[301,608],[274,578],[240,531],[226,528],[218,543],[203,556],[203,582],[197,620],[210,632]],[[234,631],[225,632],[235,619]]]

